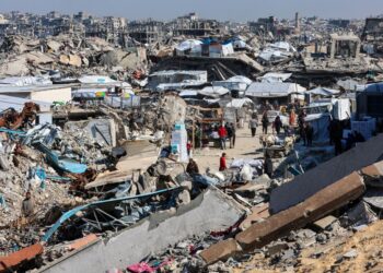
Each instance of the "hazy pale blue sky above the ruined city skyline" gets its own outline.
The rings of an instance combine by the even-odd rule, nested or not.
[[[383,0],[0,0],[0,12],[19,10],[47,13],[85,11],[94,15],[116,15],[129,20],[167,20],[195,11],[200,17],[246,22],[276,15],[362,19],[383,13]]]

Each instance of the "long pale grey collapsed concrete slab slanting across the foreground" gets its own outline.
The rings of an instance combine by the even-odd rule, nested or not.
[[[207,190],[176,211],[153,214],[108,239],[100,239],[40,272],[105,272],[126,268],[193,235],[233,225],[244,209],[219,190]]]

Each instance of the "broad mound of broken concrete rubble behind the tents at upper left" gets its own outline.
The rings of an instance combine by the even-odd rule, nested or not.
[[[113,74],[119,80],[137,70],[147,71],[146,49],[127,51],[101,38],[55,36],[32,39],[5,37],[0,45],[0,74],[49,75],[56,79],[88,74]],[[128,71],[130,73],[128,73]]]

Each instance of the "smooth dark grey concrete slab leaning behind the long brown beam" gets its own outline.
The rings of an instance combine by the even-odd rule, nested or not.
[[[361,169],[381,159],[383,159],[383,134],[379,134],[368,142],[358,143],[355,149],[272,190],[270,213],[275,214],[297,205],[353,170]]]

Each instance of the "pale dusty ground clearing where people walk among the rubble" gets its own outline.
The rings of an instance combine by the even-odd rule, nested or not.
[[[194,158],[200,171],[205,173],[208,167],[211,170],[218,170],[220,156],[223,152],[227,153],[228,165],[230,165],[234,158],[260,158],[262,151],[259,149],[262,146],[259,143],[259,130],[260,128],[257,129],[258,132],[255,138],[252,138],[251,130],[247,129],[247,126],[245,126],[244,129],[237,129],[234,149],[229,149],[229,141],[227,142],[225,151],[217,147],[196,149]]]

